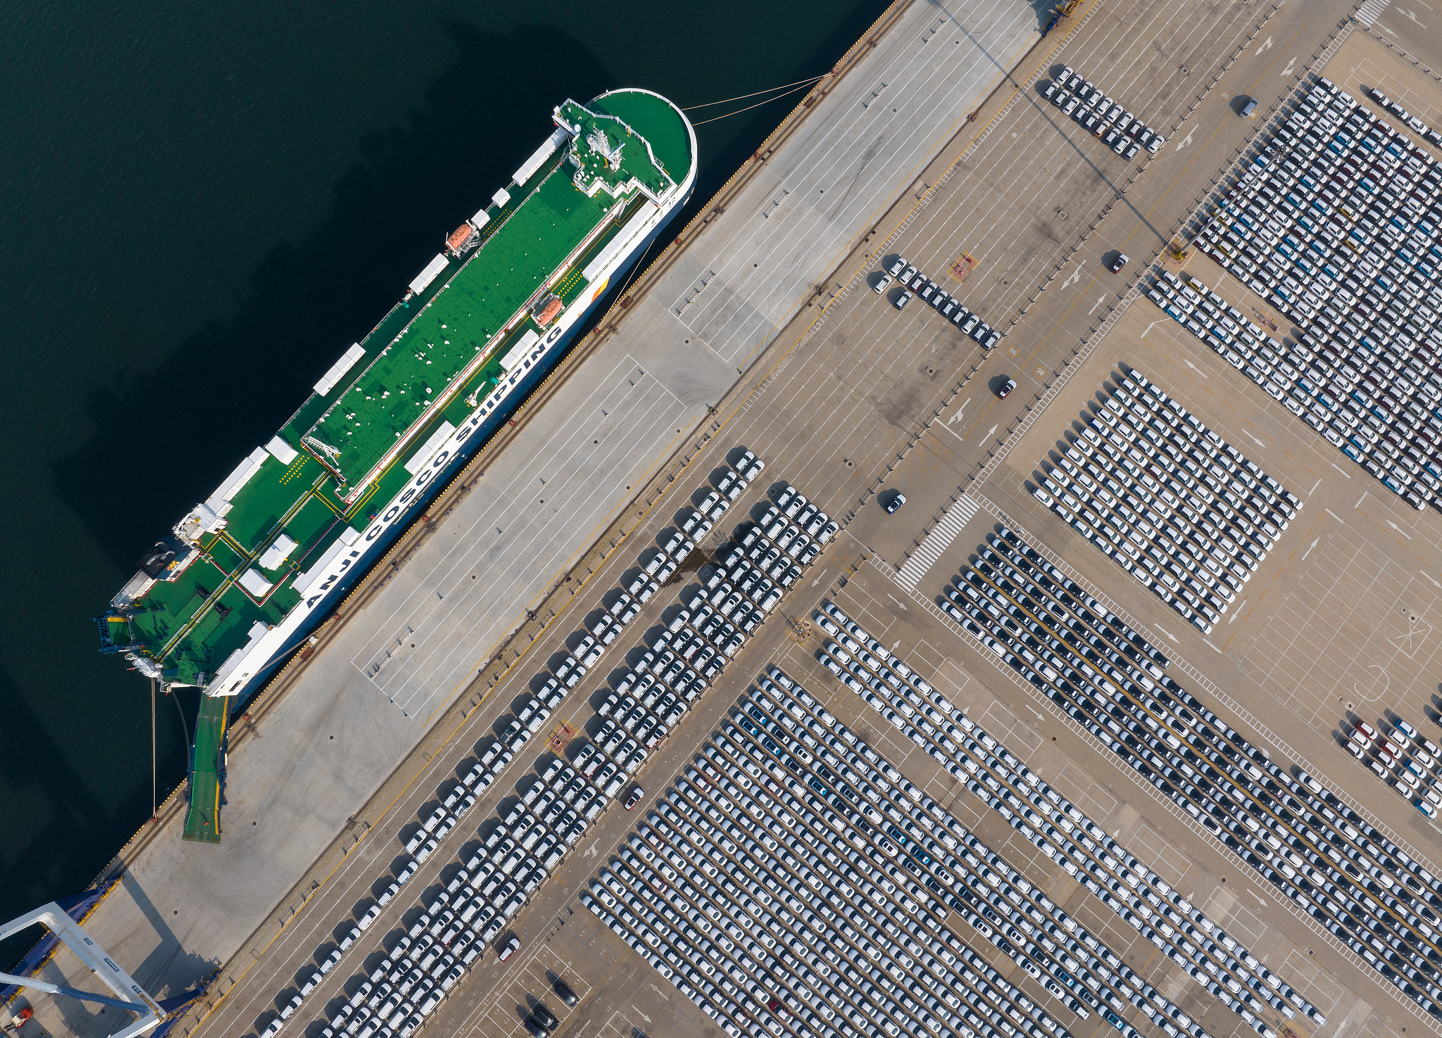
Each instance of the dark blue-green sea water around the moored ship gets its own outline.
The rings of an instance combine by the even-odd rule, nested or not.
[[[150,686],[97,652],[94,617],[505,185],[552,107],[808,79],[884,7],[0,4],[0,920],[84,890],[151,812]],[[800,97],[698,127],[692,209]],[[196,698],[157,701],[160,800]]]

